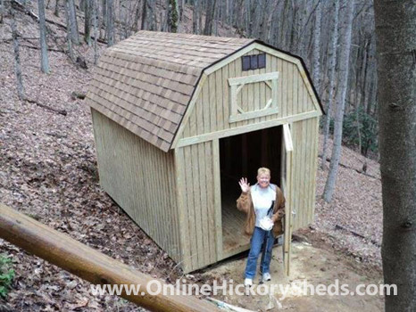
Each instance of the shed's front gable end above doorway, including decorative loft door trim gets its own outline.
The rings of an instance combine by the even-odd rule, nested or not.
[[[300,118],[305,113],[319,116],[320,106],[301,62],[270,50],[254,43],[239,55],[231,55],[230,62],[226,59],[220,62],[222,66],[214,65],[215,70],[205,70],[208,75],[200,92],[194,94],[195,103],[188,107],[173,147],[180,139],[209,134],[221,137],[237,128]],[[243,57],[261,53],[265,53],[265,68],[243,70]]]

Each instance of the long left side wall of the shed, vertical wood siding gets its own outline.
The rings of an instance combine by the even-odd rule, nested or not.
[[[91,110],[100,185],[154,242],[181,260],[173,152]]]

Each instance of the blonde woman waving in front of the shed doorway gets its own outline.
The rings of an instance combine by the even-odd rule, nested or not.
[[[261,251],[262,280],[270,281],[271,279],[271,249],[275,237],[283,233],[281,219],[285,216],[285,197],[277,185],[270,184],[269,168],[257,170],[255,185],[250,186],[246,177],[242,177],[238,184],[242,193],[237,199],[237,209],[244,211],[247,215],[245,234],[252,236],[244,282],[246,286],[251,286]]]

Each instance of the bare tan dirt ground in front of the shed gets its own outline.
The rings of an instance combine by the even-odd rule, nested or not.
[[[304,237],[311,236],[314,236],[314,234],[312,233]],[[316,239],[312,243],[316,244],[319,241],[321,240]],[[272,296],[268,294],[248,294],[243,296],[234,294],[232,296],[218,295],[214,298],[254,311],[382,311],[384,309],[384,300],[380,295],[326,294],[312,296],[301,293],[299,287],[303,287],[303,283],[315,286],[318,284],[330,285],[336,284],[336,280],[338,280],[339,285],[347,284],[349,291],[355,291],[356,286],[359,284],[379,285],[383,283],[381,272],[378,269],[371,269],[354,259],[345,257],[340,252],[334,252],[328,245],[321,247],[305,241],[294,242],[292,246],[291,272],[287,277],[283,272],[282,248],[281,246],[275,246],[270,263],[272,279],[270,282],[265,283],[270,289],[272,286],[275,287],[274,291],[270,291]],[[231,280],[234,285],[243,283],[245,261],[245,257],[230,260],[219,267],[207,270],[204,275],[207,277],[226,276],[229,284]],[[260,276],[257,275],[254,279],[254,289],[259,287],[261,283]],[[279,284],[282,286],[279,286]],[[332,291],[335,291],[335,286],[332,287]],[[338,290],[341,293],[342,289],[338,288]],[[284,294],[286,295],[283,297]]]

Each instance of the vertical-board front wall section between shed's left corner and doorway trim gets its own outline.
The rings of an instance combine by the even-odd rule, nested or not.
[[[188,145],[175,153],[182,215],[183,267],[186,272],[215,263],[217,228],[212,142]],[[218,160],[217,160],[218,161]],[[218,205],[218,203],[217,203]]]

